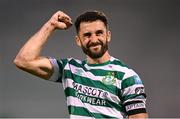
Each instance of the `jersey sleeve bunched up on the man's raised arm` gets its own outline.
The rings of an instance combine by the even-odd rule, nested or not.
[[[49,81],[62,83],[63,71],[66,59],[57,60],[55,58],[49,58],[51,64],[53,65],[53,74],[51,75]]]

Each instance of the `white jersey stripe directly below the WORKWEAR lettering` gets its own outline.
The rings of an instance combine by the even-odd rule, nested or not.
[[[91,113],[101,113],[103,115],[108,115],[111,117],[123,118],[121,112],[117,111],[115,108],[94,106],[88,103],[82,103],[80,99],[72,96],[67,97],[67,104],[68,106],[71,105],[71,106],[84,107],[88,109]]]

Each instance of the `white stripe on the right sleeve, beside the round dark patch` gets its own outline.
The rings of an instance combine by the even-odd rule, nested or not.
[[[143,86],[143,84],[135,84],[135,85],[129,86],[123,90],[122,96],[135,94],[136,93],[135,90],[138,87],[144,87],[144,86]]]

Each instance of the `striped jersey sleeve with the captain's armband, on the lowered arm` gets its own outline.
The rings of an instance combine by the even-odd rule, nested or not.
[[[146,94],[139,76],[131,70],[121,82],[121,96],[127,115],[146,113]]]

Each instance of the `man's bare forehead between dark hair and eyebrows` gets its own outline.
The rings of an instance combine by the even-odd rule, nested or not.
[[[93,32],[93,31],[105,30],[105,29],[106,29],[106,26],[104,25],[104,23],[100,20],[96,20],[93,22],[82,22],[80,24],[79,32],[80,33]]]

